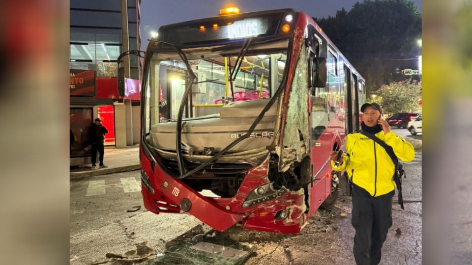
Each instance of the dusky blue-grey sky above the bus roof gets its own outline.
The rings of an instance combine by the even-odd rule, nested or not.
[[[293,8],[317,18],[334,15],[337,10],[351,10],[359,0],[142,0],[141,50],[146,51],[151,31],[167,24],[217,16],[227,4],[240,12]],[[421,0],[413,0],[421,13]]]

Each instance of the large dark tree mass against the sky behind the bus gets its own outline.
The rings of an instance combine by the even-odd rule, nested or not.
[[[413,1],[364,0],[315,21],[366,79],[367,95],[408,78],[396,68],[416,69],[416,60],[401,60],[420,54],[421,15]]]

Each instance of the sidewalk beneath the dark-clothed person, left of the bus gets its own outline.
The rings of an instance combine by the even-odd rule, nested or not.
[[[140,169],[139,144],[128,146],[126,148],[105,147],[104,164],[108,167],[99,168],[95,170],[91,169],[91,165],[86,165],[85,167],[71,168],[70,179],[79,179]]]

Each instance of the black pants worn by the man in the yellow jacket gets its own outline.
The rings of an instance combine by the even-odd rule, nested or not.
[[[392,226],[392,198],[395,190],[372,197],[363,188],[353,188],[353,218],[355,229],[354,259],[357,265],[377,265],[383,242]]]

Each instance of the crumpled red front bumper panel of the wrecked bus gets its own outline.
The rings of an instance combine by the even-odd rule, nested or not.
[[[151,170],[149,160],[144,153],[141,155],[142,167],[145,171]],[[183,212],[179,207],[187,199],[191,203],[187,212],[218,231],[225,231],[241,221],[241,226],[247,229],[293,234],[298,233],[305,223],[303,212],[306,206],[302,190],[284,190],[283,195],[275,194],[275,198],[270,197],[270,200],[243,208],[244,201],[255,188],[269,184],[268,159],[248,171],[237,195],[231,199],[203,196],[166,174],[158,165],[154,166],[154,170],[154,178],[151,179],[156,187],[154,194],[151,194],[146,185],[142,185],[145,207],[151,212],[174,212],[172,209]],[[259,200],[262,198],[264,195]],[[289,212],[286,219],[275,220],[276,214],[283,210]],[[260,218],[261,216],[264,218]]]

